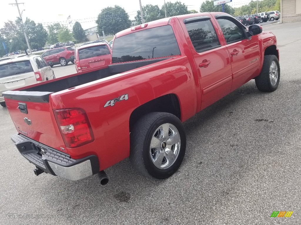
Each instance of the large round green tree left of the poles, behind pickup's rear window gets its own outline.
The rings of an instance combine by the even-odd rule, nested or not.
[[[105,34],[116,34],[131,26],[129,14],[118,5],[102,9],[95,22],[99,34],[102,34],[102,31]]]

